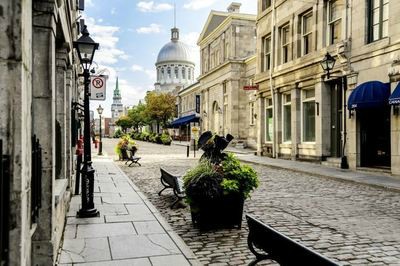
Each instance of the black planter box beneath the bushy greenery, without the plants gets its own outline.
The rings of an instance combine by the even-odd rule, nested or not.
[[[226,195],[190,204],[194,227],[199,229],[241,228],[244,197]]]

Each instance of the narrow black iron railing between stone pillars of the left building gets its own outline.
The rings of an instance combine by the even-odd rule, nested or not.
[[[42,148],[39,140],[32,137],[31,221],[36,223],[42,206]]]

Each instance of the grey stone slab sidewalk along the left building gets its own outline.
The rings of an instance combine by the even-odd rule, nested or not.
[[[67,215],[58,265],[200,265],[193,252],[110,158],[95,158],[94,201],[100,217]]]

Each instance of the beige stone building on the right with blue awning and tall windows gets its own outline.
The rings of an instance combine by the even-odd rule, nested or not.
[[[398,80],[399,7],[258,1],[258,154],[400,172],[399,120],[385,85],[393,91]],[[320,64],[327,53],[336,60],[329,75]]]

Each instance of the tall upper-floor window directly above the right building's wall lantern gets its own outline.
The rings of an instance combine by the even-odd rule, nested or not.
[[[343,0],[330,0],[328,2],[329,45],[339,42],[342,38],[342,1]]]

